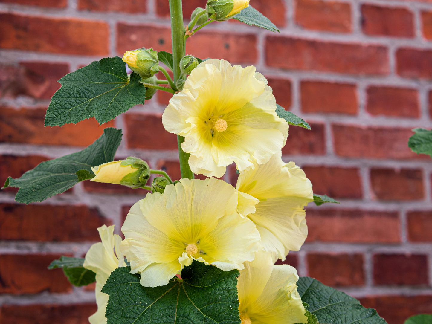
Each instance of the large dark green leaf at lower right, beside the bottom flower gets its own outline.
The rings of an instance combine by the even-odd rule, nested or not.
[[[328,324],[386,324],[377,311],[364,308],[360,302],[318,280],[301,277],[297,282],[297,292],[303,302],[309,304],[308,311],[320,323]],[[312,322],[313,323],[313,322]]]

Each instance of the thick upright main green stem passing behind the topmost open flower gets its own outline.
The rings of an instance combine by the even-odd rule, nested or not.
[[[174,82],[176,83],[180,77],[180,60],[185,54],[184,45],[184,25],[183,11],[181,8],[181,0],[169,0],[169,13],[171,16],[171,39],[172,39],[172,60]],[[181,149],[181,143],[184,142],[184,137],[177,135],[178,143],[178,159],[180,161],[181,178],[194,178],[194,173],[187,162],[190,154],[187,154]]]

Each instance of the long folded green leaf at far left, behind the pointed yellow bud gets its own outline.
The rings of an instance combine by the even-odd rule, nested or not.
[[[120,145],[121,130],[105,128],[104,133],[87,148],[40,163],[21,178],[8,178],[5,186],[19,187],[15,200],[19,203],[43,201],[88,179],[92,166],[111,162]],[[84,170],[89,172],[87,174]]]

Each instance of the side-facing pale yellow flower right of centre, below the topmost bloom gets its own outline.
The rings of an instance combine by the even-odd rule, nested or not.
[[[236,188],[238,212],[255,223],[273,260],[299,251],[308,236],[303,207],[313,201],[305,172],[294,162],[283,162],[279,152],[265,164],[240,171]]]

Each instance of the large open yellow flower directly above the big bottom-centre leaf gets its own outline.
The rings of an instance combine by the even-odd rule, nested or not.
[[[121,228],[121,251],[141,285],[166,285],[192,260],[222,270],[243,269],[254,259],[260,235],[253,222],[236,211],[237,194],[216,178],[181,179],[163,194],[147,194],[135,203]]]

